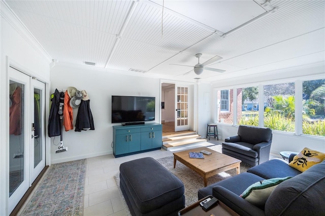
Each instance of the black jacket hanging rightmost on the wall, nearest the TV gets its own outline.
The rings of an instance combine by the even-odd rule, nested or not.
[[[90,100],[81,100],[76,119],[75,131],[94,130],[93,118],[90,111]]]

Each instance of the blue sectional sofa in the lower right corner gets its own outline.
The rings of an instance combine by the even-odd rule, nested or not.
[[[292,178],[280,183],[262,207],[240,197],[256,182],[286,176]],[[325,160],[304,172],[290,167],[284,160],[269,160],[198,191],[198,199],[208,195],[240,215],[325,215]]]

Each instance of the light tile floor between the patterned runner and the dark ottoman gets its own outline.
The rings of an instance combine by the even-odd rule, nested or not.
[[[172,156],[166,150],[155,150],[136,155],[114,158],[104,155],[87,159],[84,215],[126,215],[114,175],[119,172],[121,163],[143,157],[154,159]]]

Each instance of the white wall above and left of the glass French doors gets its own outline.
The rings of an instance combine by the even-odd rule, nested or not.
[[[28,75],[48,82],[50,76],[50,59],[42,52],[30,35],[23,32],[23,26],[1,2],[1,34],[0,34],[0,215],[9,215],[8,212],[8,153],[9,131],[9,92],[7,90],[6,56],[11,63],[19,66]]]

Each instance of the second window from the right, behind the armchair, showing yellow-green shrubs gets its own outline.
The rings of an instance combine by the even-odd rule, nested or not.
[[[295,83],[264,86],[264,126],[295,132]]]

